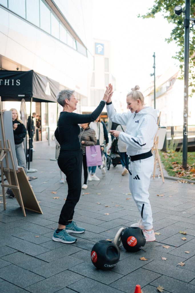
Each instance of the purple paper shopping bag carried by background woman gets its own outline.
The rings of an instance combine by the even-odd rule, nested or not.
[[[86,147],[86,160],[88,167],[102,165],[100,145]]]

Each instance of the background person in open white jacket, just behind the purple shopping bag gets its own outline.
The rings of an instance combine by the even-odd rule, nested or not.
[[[95,121],[91,122],[89,126],[93,130],[95,130],[96,138],[97,138],[96,145],[100,145],[101,151],[103,151],[103,148],[104,148],[104,134],[103,134],[103,124],[101,123],[100,116],[97,117],[97,119]],[[100,179],[95,174],[97,166],[92,166],[92,167],[88,167],[88,168],[89,168],[88,181],[91,181],[91,180],[99,181]],[[91,175],[90,175],[90,172],[91,172]],[[101,172],[102,172],[103,175],[106,174],[105,167],[101,169]]]

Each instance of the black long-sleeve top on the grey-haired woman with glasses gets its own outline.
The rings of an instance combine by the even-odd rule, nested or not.
[[[95,121],[101,114],[105,104],[102,100],[91,114],[77,114],[66,111],[60,113],[58,127],[54,135],[60,144],[61,151],[79,151],[81,149],[79,140],[80,127],[78,124]]]

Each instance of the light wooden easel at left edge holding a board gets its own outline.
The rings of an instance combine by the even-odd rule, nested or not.
[[[24,209],[24,205],[23,205],[23,200],[22,200],[22,196],[21,196],[21,192],[20,192],[20,186],[18,183],[18,178],[17,178],[17,174],[16,174],[16,170],[15,170],[15,165],[14,165],[14,161],[13,161],[13,155],[12,155],[12,151],[11,151],[11,146],[10,146],[10,142],[9,139],[7,139],[7,146],[6,146],[6,139],[5,139],[5,132],[4,132],[4,122],[3,122],[3,114],[4,114],[5,110],[1,109],[1,98],[0,98],[0,122],[1,122],[1,131],[2,131],[2,136],[3,136],[3,141],[0,140],[0,165],[1,165],[1,186],[2,186],[2,192],[3,192],[3,202],[4,202],[4,210],[6,209],[6,197],[5,197],[5,188],[11,188],[16,190],[16,193],[18,194],[18,198],[19,198],[19,204],[22,208],[23,211],[23,215],[24,217],[26,217],[26,213],[25,213],[25,209]],[[11,168],[9,166],[9,161],[8,161],[8,153],[10,154],[10,158],[11,158]],[[6,168],[4,168],[3,166],[3,160],[6,160]],[[7,181],[8,184],[4,183],[4,171],[7,172]],[[14,174],[14,179],[15,179],[15,185],[11,184],[11,176],[10,176],[10,172],[13,172]],[[19,171],[18,171],[19,172]]]

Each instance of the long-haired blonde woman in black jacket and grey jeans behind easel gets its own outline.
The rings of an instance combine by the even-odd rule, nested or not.
[[[18,160],[18,166],[23,167],[27,175],[26,158],[23,148],[23,141],[26,136],[26,127],[18,118],[18,111],[11,108],[12,111],[12,124],[13,124],[13,138],[15,143],[15,152]]]

